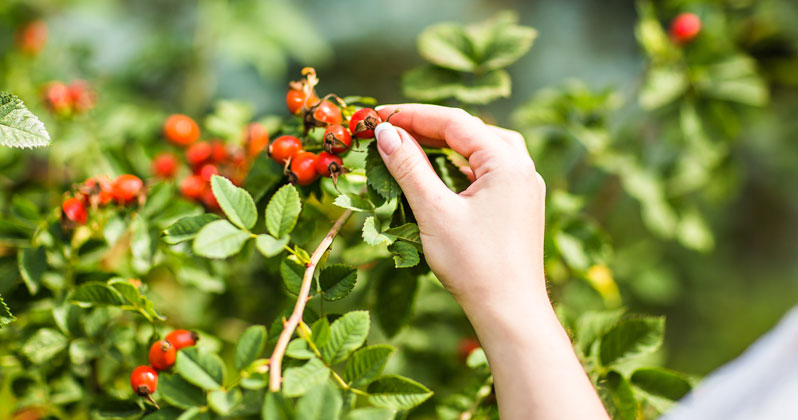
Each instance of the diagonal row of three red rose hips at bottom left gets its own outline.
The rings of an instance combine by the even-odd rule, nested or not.
[[[174,330],[152,343],[149,353],[149,366],[140,365],[130,374],[130,386],[136,395],[147,398],[153,405],[158,406],[150,396],[158,388],[158,372],[169,370],[177,360],[178,350],[197,344],[199,336],[188,330]]]

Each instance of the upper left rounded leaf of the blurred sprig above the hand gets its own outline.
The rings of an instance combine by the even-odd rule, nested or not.
[[[418,36],[418,52],[427,61],[452,70],[473,72],[474,48],[465,29],[454,23],[439,23]]]

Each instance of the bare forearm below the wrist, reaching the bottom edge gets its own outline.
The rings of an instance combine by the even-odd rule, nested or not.
[[[608,418],[545,290],[464,308],[487,354],[502,419]]]

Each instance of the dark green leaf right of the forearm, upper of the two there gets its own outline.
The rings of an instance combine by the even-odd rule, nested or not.
[[[662,344],[664,331],[665,319],[661,317],[620,321],[601,337],[601,364],[610,366],[625,358],[656,350]]]

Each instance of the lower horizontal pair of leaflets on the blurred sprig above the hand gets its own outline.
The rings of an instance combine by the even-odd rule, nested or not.
[[[505,70],[464,78],[452,70],[423,66],[402,76],[404,95],[424,102],[455,98],[467,104],[484,105],[509,97],[511,88],[512,81]]]

